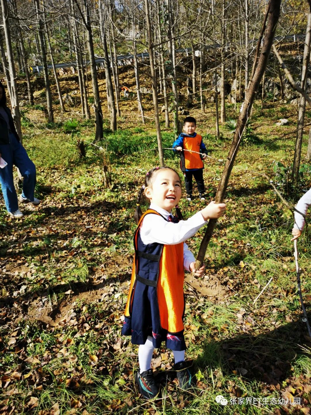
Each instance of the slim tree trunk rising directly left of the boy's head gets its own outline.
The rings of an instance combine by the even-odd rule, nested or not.
[[[174,134],[178,134],[178,90],[177,90],[177,79],[176,79],[176,67],[175,67],[175,59],[174,59],[174,40],[173,40],[173,33],[171,29],[171,3],[170,0],[165,0],[166,4],[166,14],[167,14],[167,39],[168,39],[168,47],[169,47],[169,61],[171,66],[171,73],[170,77],[172,80],[172,92],[174,96]]]

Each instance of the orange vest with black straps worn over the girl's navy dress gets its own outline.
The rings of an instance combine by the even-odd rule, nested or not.
[[[128,294],[128,301],[126,303],[124,313],[125,317],[130,317],[132,312],[134,313],[140,311],[135,310],[135,302],[133,303],[137,275],[139,274],[140,269],[139,262],[141,256],[141,253],[136,254],[138,252],[137,239],[140,225],[144,217],[148,214],[162,216],[155,210],[148,209],[142,215],[138,223],[138,227],[134,236],[135,255],[130,282],[130,291]],[[150,245],[151,244],[145,245],[145,247],[149,247]],[[149,249],[147,249],[147,252],[149,253]],[[149,274],[149,279],[151,281],[155,281],[155,286],[157,288],[157,303],[159,307],[160,325],[162,329],[167,330],[169,333],[181,332],[184,328],[183,314],[185,310],[185,302],[183,297],[183,242],[175,245],[163,244],[162,252],[159,257],[158,275],[154,276]],[[141,281],[141,278],[139,281]]]

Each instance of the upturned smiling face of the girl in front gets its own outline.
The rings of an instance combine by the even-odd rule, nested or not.
[[[167,212],[171,212],[181,198],[181,182],[175,171],[159,170],[155,173],[154,179],[150,186],[145,188],[145,195],[150,199],[150,203]]]

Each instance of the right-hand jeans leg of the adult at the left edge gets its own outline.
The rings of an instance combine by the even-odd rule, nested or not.
[[[22,144],[20,144],[13,134],[10,134],[13,145],[13,163],[19,169],[23,180],[23,198],[34,201],[34,188],[36,186],[36,166],[29,159],[28,154]]]

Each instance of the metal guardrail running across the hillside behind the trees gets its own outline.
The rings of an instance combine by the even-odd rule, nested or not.
[[[282,40],[282,39],[291,40],[292,39],[293,41],[296,41],[296,40],[299,40],[299,39],[304,39],[305,36],[306,36],[305,34],[290,34],[290,35],[285,36],[285,37],[283,37],[283,36],[275,36],[274,39],[275,40]],[[228,43],[226,46],[230,46],[230,44]],[[214,47],[219,48],[220,45],[219,44],[216,44],[216,45],[208,45],[208,46],[205,46],[206,49],[214,49]],[[191,48],[186,48],[186,49],[183,48],[183,49],[176,49],[175,50],[175,52],[177,52],[177,53],[185,53],[185,52],[187,53],[187,52],[191,52],[191,51],[192,51]],[[137,54],[137,58],[138,59],[141,59],[142,62],[143,62],[145,58],[149,58],[149,53],[148,52],[144,52],[144,53]],[[117,56],[117,60],[120,63],[123,62],[123,61],[131,61],[132,59],[134,59],[134,55],[133,54]],[[104,58],[97,58],[97,59],[95,59],[96,65],[100,65],[101,63],[104,63],[104,62],[105,62],[105,59]],[[88,61],[84,61],[83,62],[83,65],[86,66],[86,65],[89,65],[89,63],[90,63],[89,60]],[[55,68],[56,69],[59,69],[59,68],[70,68],[72,66],[74,68],[77,68],[77,62],[72,61],[72,62],[67,62],[67,63],[55,63]],[[51,68],[52,68],[52,65],[48,65],[48,69],[51,69]],[[43,71],[43,65],[32,65],[32,66],[30,66],[29,70],[32,73],[39,73],[39,75],[40,75],[40,73]]]

